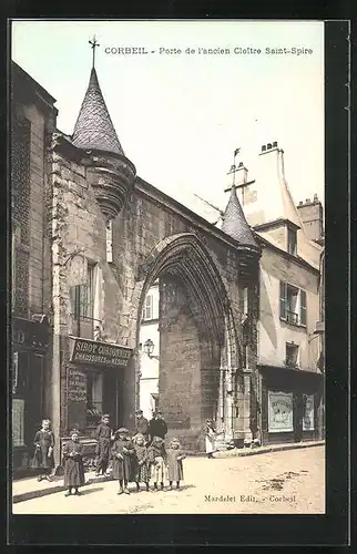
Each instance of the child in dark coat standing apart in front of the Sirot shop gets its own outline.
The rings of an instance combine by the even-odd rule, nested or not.
[[[83,445],[80,443],[79,432],[73,429],[71,440],[63,447],[64,486],[68,486],[64,496],[70,496],[72,489],[74,494],[80,494],[78,489],[85,483],[82,452]]]

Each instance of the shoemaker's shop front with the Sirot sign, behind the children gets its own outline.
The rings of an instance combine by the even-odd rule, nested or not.
[[[86,465],[95,459],[95,429],[103,413],[111,425],[124,424],[128,407],[128,369],[132,349],[114,343],[70,337],[67,368],[67,424],[81,433]],[[62,443],[69,439],[62,437]]]

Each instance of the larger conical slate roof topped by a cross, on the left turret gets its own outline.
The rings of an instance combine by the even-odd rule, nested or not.
[[[83,150],[103,150],[124,154],[109,115],[95,69],[90,82],[72,135],[74,146]]]

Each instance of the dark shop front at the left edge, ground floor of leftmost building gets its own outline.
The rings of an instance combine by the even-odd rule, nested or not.
[[[45,413],[45,380],[50,326],[47,318],[12,320],[11,437],[14,475],[27,473],[33,455],[33,438]]]

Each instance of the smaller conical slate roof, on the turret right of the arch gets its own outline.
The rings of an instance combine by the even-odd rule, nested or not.
[[[235,186],[231,189],[231,196],[224,213],[222,230],[241,244],[257,246],[237,198]]]

